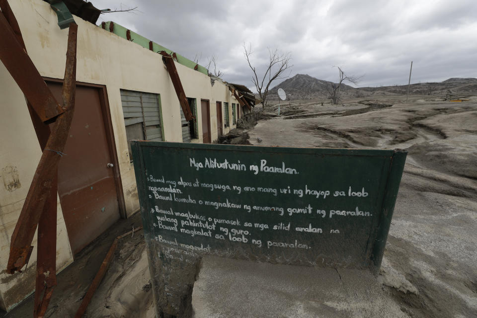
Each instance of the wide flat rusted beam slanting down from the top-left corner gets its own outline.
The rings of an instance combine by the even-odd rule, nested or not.
[[[3,0],[1,8],[0,60],[41,120],[49,121],[63,113],[63,109],[23,49],[24,44],[23,41],[18,40],[18,32],[15,32],[10,26],[9,21],[12,21],[13,13],[9,9],[8,3]],[[18,23],[12,22],[12,25],[16,27],[17,31],[19,30]]]

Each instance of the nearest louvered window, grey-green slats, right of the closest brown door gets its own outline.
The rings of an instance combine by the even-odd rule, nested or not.
[[[124,125],[132,161],[131,141],[163,141],[160,114],[160,95],[121,89]]]

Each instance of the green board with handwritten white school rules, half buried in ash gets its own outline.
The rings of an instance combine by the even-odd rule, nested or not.
[[[406,158],[162,142],[133,142],[132,152],[150,267],[205,253],[374,272]]]

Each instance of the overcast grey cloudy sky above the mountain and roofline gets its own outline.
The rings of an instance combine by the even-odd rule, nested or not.
[[[92,0],[115,21],[206,65],[215,55],[223,79],[253,88],[243,43],[258,73],[267,48],[290,53],[290,77],[336,81],[340,66],[364,75],[358,86],[477,77],[477,0]],[[283,80],[283,79],[282,79]],[[272,86],[277,84],[274,83]],[[255,89],[253,89],[255,91]]]

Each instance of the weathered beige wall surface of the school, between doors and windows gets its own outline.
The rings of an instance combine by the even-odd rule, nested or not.
[[[45,1],[15,0],[10,1],[10,5],[19,22],[28,54],[40,74],[44,77],[63,79],[68,29],[60,30],[56,13]],[[77,80],[106,85],[126,213],[129,216],[139,210],[139,201],[134,168],[129,159],[120,89],[160,94],[165,141],[182,141],[179,101],[160,55],[78,17],[75,17],[75,21],[79,25]],[[218,138],[216,101],[229,102],[231,127],[225,129],[224,133],[234,128],[231,105],[237,101],[231,97],[228,87],[220,80],[216,80],[212,86],[208,76],[178,63],[175,64],[186,96],[197,99],[198,142],[202,142],[201,99],[210,101],[212,140]],[[21,184],[13,191],[9,191],[0,183],[0,266],[5,268],[9,239],[41,151],[23,94],[1,64],[0,96],[0,111],[3,114],[0,116],[0,169],[17,171]],[[8,178],[12,177],[3,177],[3,180]],[[72,253],[60,206],[59,212],[58,266],[64,267],[72,261]],[[4,307],[9,308],[32,290],[33,276],[29,272],[34,272],[34,255],[36,255],[35,250],[29,265],[31,271],[28,269],[26,273],[15,276],[0,274],[2,297],[0,306],[3,300]],[[17,297],[12,300],[7,296],[14,290],[17,291],[15,292]]]

